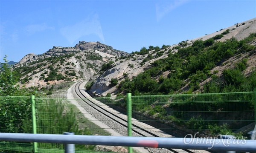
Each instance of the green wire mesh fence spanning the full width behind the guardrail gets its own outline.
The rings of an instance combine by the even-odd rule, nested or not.
[[[127,113],[125,97],[91,100],[96,101],[95,105],[107,105],[119,111],[115,113]],[[78,102],[71,104],[70,101]],[[34,120],[32,102],[35,104]],[[195,133],[198,133],[198,136],[227,133],[248,136],[247,132],[253,130],[256,121],[256,92],[131,96],[131,102],[134,119],[177,137]],[[84,118],[97,112],[83,113],[78,107],[89,106],[81,99],[0,97],[0,132],[46,134],[75,132],[75,134],[109,135],[102,133],[101,127],[91,124]],[[104,122],[104,119],[102,121]],[[33,127],[36,127],[36,130],[33,131]],[[63,148],[63,144],[0,142],[0,151],[57,153],[64,152]],[[76,149],[76,152],[84,152],[90,147],[76,146]]]

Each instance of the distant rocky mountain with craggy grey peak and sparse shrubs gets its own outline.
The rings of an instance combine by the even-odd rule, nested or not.
[[[27,54],[13,69],[26,87],[59,84],[97,77],[103,64],[128,55],[100,42],[80,41],[74,47],[53,46],[41,55]]]

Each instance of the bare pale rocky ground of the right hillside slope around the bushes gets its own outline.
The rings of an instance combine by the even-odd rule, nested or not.
[[[124,81],[125,78],[127,79],[132,79],[138,74],[144,72],[146,69],[150,69],[154,67],[152,63],[157,60],[162,60],[166,59],[169,55],[169,53],[175,54],[178,52],[179,49],[187,48],[189,46],[192,46],[194,42],[198,40],[209,40],[210,38],[214,39],[214,42],[224,42],[228,39],[231,38],[236,38],[236,40],[242,40],[246,37],[248,37],[251,33],[256,32],[256,18],[253,18],[251,20],[244,21],[242,23],[237,23],[233,26],[230,26],[225,29],[221,29],[220,31],[214,32],[209,35],[205,35],[200,38],[195,38],[192,40],[186,40],[182,41],[178,44],[168,46],[168,45],[163,45],[161,48],[156,46],[149,46],[148,49],[142,48],[140,52],[133,52],[132,57],[126,58],[126,59],[121,59],[119,61],[116,61],[115,63],[112,64],[112,68],[108,69],[106,72],[104,72],[93,84],[93,86],[90,88],[90,92],[92,92],[94,95],[98,96],[105,96],[108,93],[111,93],[112,95],[115,95],[119,92],[118,90],[118,85],[113,86],[111,84],[111,79],[116,79],[118,81],[118,84],[120,82]],[[252,45],[255,46],[255,41],[252,43]],[[255,55],[248,55],[248,53],[244,53],[239,55],[239,58],[236,56],[231,57],[230,59],[221,59],[222,61],[215,62],[215,67],[213,67],[210,71],[210,73],[217,72],[216,75],[218,77],[221,76],[222,71],[227,68],[232,68],[234,67],[234,63],[241,61],[244,57],[248,57],[248,68],[244,70],[246,75],[251,72],[251,68],[255,67]],[[220,65],[224,61],[229,64],[225,65]],[[227,61],[226,61],[227,60]],[[186,62],[186,61],[184,61]],[[154,78],[156,81],[159,80],[160,76],[163,78],[166,78],[169,74],[171,73],[170,70],[161,70],[160,74],[155,75]],[[208,77],[204,81],[200,82],[200,88],[202,86],[211,80],[211,77]],[[183,80],[183,87],[181,87],[181,92],[186,92],[189,90],[189,79],[186,78]],[[199,90],[198,90],[199,91]],[[197,92],[198,92],[197,91]]]

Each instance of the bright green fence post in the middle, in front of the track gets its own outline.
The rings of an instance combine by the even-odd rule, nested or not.
[[[131,93],[127,93],[127,124],[128,124],[128,136],[132,136],[132,124],[131,124]],[[132,153],[132,147],[128,147],[128,153]]]

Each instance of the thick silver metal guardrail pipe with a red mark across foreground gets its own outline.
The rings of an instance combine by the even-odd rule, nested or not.
[[[0,141],[256,152],[256,140],[0,133]]]

